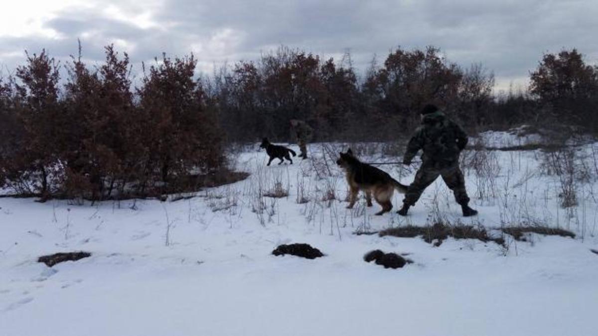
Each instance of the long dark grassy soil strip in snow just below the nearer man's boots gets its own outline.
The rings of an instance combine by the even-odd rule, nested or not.
[[[454,239],[477,239],[484,243],[495,242],[498,245],[504,245],[505,240],[502,237],[490,237],[483,227],[474,227],[471,225],[444,225],[437,223],[425,227],[416,227],[407,225],[404,227],[389,228],[379,233],[380,237],[407,237],[413,238],[422,236],[426,243],[434,243],[434,246],[440,246],[445,239],[453,237]]]

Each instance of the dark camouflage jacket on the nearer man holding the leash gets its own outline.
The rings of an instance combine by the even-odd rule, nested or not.
[[[407,144],[403,163],[411,163],[422,149],[424,166],[449,167],[459,161],[459,153],[466,145],[467,135],[454,121],[440,111],[426,114]]]

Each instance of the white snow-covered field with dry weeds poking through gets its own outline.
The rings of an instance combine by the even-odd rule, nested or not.
[[[592,146],[578,149],[590,172]],[[399,160],[383,145],[358,147],[364,161]],[[544,173],[540,151],[468,151],[463,160],[480,162],[465,170],[480,215],[460,216],[438,179],[406,218],[395,213],[399,194],[392,213],[374,216],[380,206],[361,196],[345,209],[332,155],[340,149],[313,144],[309,160],[266,167],[255,145],[236,159],[248,179],[177,201],[0,198],[0,335],[598,335],[596,172],[573,182],[576,206],[564,209],[562,179]],[[413,169],[379,167],[413,181]],[[288,196],[262,196],[276,187]],[[353,234],[439,219],[495,235],[548,225],[576,237],[505,235],[506,247],[449,238],[435,247]],[[271,255],[283,243],[325,256]],[[364,262],[373,249],[414,263]],[[91,256],[37,262],[71,251]]]

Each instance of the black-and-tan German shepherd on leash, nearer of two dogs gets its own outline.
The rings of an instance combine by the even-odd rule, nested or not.
[[[378,216],[392,209],[392,194],[395,190],[401,194],[407,193],[406,185],[399,183],[388,173],[362,163],[353,155],[350,148],[346,153],[339,154],[337,164],[345,171],[347,184],[349,184],[350,197],[347,209],[355,205],[359,190],[365,193],[368,206],[372,206],[372,194],[374,194],[374,199],[382,206],[382,210],[376,213]]]

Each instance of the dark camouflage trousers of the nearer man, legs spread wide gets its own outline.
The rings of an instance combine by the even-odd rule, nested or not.
[[[408,206],[413,206],[419,197],[422,196],[423,191],[438,178],[442,176],[444,183],[453,191],[454,199],[459,204],[469,203],[469,197],[465,190],[465,179],[463,173],[459,169],[459,164],[454,164],[449,167],[437,168],[422,164],[417,170],[413,183],[407,188],[405,199],[403,203]]]

